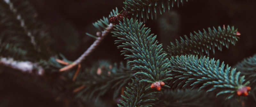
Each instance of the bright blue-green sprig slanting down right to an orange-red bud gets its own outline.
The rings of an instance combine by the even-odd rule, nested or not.
[[[188,88],[192,86],[191,90],[196,88],[199,84],[203,84],[198,91],[206,87],[212,87],[208,92],[218,90],[219,96],[226,95],[226,99],[236,96],[238,89],[248,85],[250,82],[244,83],[244,77],[239,79],[240,72],[236,69],[230,71],[230,67],[226,66],[224,62],[220,65],[220,61],[209,59],[209,57],[176,56],[170,58],[171,66],[168,70],[172,70],[171,77],[173,79],[169,82],[170,85],[177,88]]]

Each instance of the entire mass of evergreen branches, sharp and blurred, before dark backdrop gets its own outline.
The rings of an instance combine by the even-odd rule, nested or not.
[[[58,53],[50,50],[53,39],[45,31],[46,25],[37,19],[28,0],[0,0],[0,64],[14,69],[16,64],[31,72],[41,70],[45,75],[40,79],[48,84],[47,91],[60,93],[55,101],[63,98],[69,103],[67,99],[72,99],[72,102],[83,102],[87,106],[102,106],[100,103],[108,106],[102,99],[110,96],[115,100],[121,93],[118,107],[211,107],[219,105],[216,102],[226,103],[222,99],[233,103],[232,98],[241,101],[241,96],[248,95],[256,101],[256,55],[232,69],[224,62],[220,64],[220,60],[208,57],[211,50],[214,54],[216,49],[221,51],[223,46],[229,48],[230,44],[236,44],[240,33],[235,27],[213,27],[191,33],[190,37],[185,35],[185,39],[180,37],[176,45],[171,42],[168,51],[163,52],[163,45],[158,44],[156,35],[150,34],[151,29],[143,24],[150,17],[156,18],[156,11],[162,14],[175,3],[179,7],[184,2],[124,0],[122,11],[116,8],[108,17],[93,23],[99,31],[97,36],[86,34],[98,42],[96,40],[78,59],[89,56],[103,41],[101,37],[112,31],[113,37],[118,39],[115,41],[117,49],[123,49],[121,55],[125,56],[127,64],[101,61],[87,66],[82,60],[76,60],[74,64],[62,54],[59,54],[62,60],[53,56]],[[60,72],[60,68],[70,65],[63,70],[67,72]],[[16,70],[20,69],[16,67]]]

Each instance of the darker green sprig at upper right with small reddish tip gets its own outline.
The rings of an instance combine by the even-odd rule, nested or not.
[[[204,30],[204,29],[203,29]],[[218,50],[222,50],[222,46],[229,47],[229,43],[235,45],[237,39],[239,38],[236,35],[237,29],[234,27],[218,27],[218,30],[213,27],[208,28],[208,33],[204,30],[202,33],[194,32],[193,35],[190,33],[190,39],[185,35],[185,40],[180,37],[180,42],[176,40],[176,45],[171,42],[171,47],[168,46],[168,56],[177,56],[177,55],[199,55],[201,57],[206,53],[209,56],[209,51],[212,50],[213,54],[215,53],[215,47]]]

